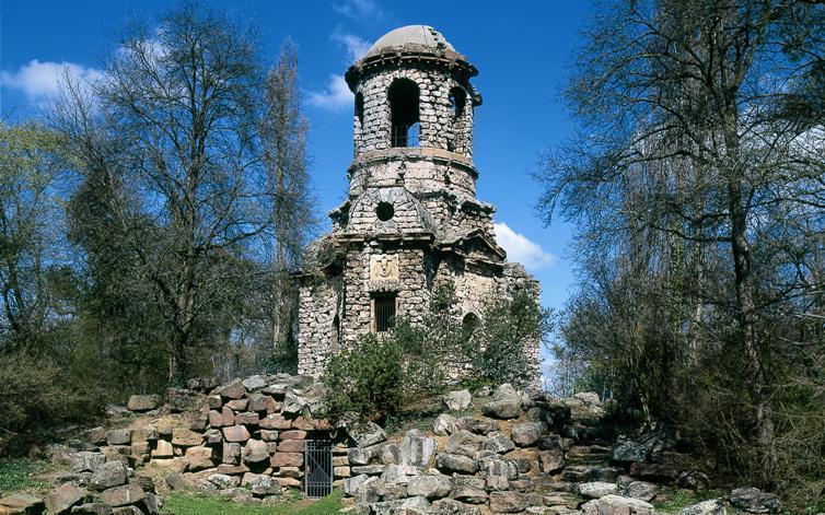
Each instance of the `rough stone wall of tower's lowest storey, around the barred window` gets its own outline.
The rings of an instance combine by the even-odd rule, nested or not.
[[[376,277],[376,262],[391,262],[388,273]],[[516,289],[527,289],[536,299],[539,294],[538,282],[520,265],[508,264],[501,269],[468,264],[455,255],[437,256],[422,248],[379,242],[362,244],[347,253],[341,276],[312,281],[301,289],[299,373],[319,376],[339,348],[351,348],[360,336],[373,331],[374,294],[395,293],[397,316],[420,324],[429,309],[433,288],[445,282],[455,286],[462,319],[467,314],[481,318],[484,303],[492,296],[511,296]],[[528,342],[524,352],[537,371],[539,342]],[[455,378],[462,366],[456,364]]]

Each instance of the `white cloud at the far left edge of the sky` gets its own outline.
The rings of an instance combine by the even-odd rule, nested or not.
[[[58,94],[60,82],[67,72],[81,84],[103,78],[102,71],[74,62],[40,62],[32,59],[16,72],[2,71],[0,82],[5,87],[22,91],[30,100],[45,100]]]

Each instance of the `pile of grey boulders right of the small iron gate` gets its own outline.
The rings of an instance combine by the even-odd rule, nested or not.
[[[414,429],[387,440],[380,428],[349,449],[352,477],[341,481],[359,514],[653,515],[662,485],[709,487],[662,434],[601,440],[604,407],[592,393],[557,399],[502,385],[444,396],[450,411],[480,401],[483,415],[440,414],[432,431]],[[745,513],[778,513],[776,495],[737,489],[731,505]],[[751,511],[753,510],[753,511]],[[724,515],[712,500],[679,515]]]

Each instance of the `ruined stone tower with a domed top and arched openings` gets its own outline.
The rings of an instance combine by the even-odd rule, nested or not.
[[[381,37],[346,74],[355,93],[355,159],[333,231],[307,249],[299,273],[299,373],[394,316],[420,321],[433,288],[452,281],[463,323],[488,294],[538,291],[496,244],[495,208],[476,199],[473,112],[478,73],[434,28]],[[537,362],[537,342],[525,350]]]

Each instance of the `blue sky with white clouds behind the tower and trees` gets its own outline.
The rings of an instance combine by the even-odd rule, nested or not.
[[[478,197],[497,206],[499,243],[542,282],[542,301],[561,307],[572,284],[566,257],[570,227],[544,227],[535,212],[538,186],[530,177],[537,153],[568,138],[572,126],[558,100],[592,5],[569,1],[379,2],[327,0],[209,2],[257,25],[275,60],[286,37],[299,45],[301,85],[312,124],[310,153],[318,212],[344,199],[352,157],[352,104],[340,87],[353,54],[386,32],[426,24],[439,30],[479,69],[484,96],[476,110],[474,157]],[[54,94],[63,67],[94,77],[130,16],[149,16],[174,1],[0,0],[0,114],[14,121],[37,114]],[[325,227],[328,223],[325,220]]]

